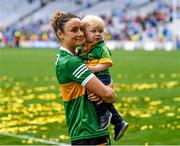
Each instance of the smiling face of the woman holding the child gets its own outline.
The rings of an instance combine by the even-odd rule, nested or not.
[[[64,25],[64,32],[61,35],[63,47],[75,49],[84,43],[84,34],[82,32],[81,20],[72,18]]]

